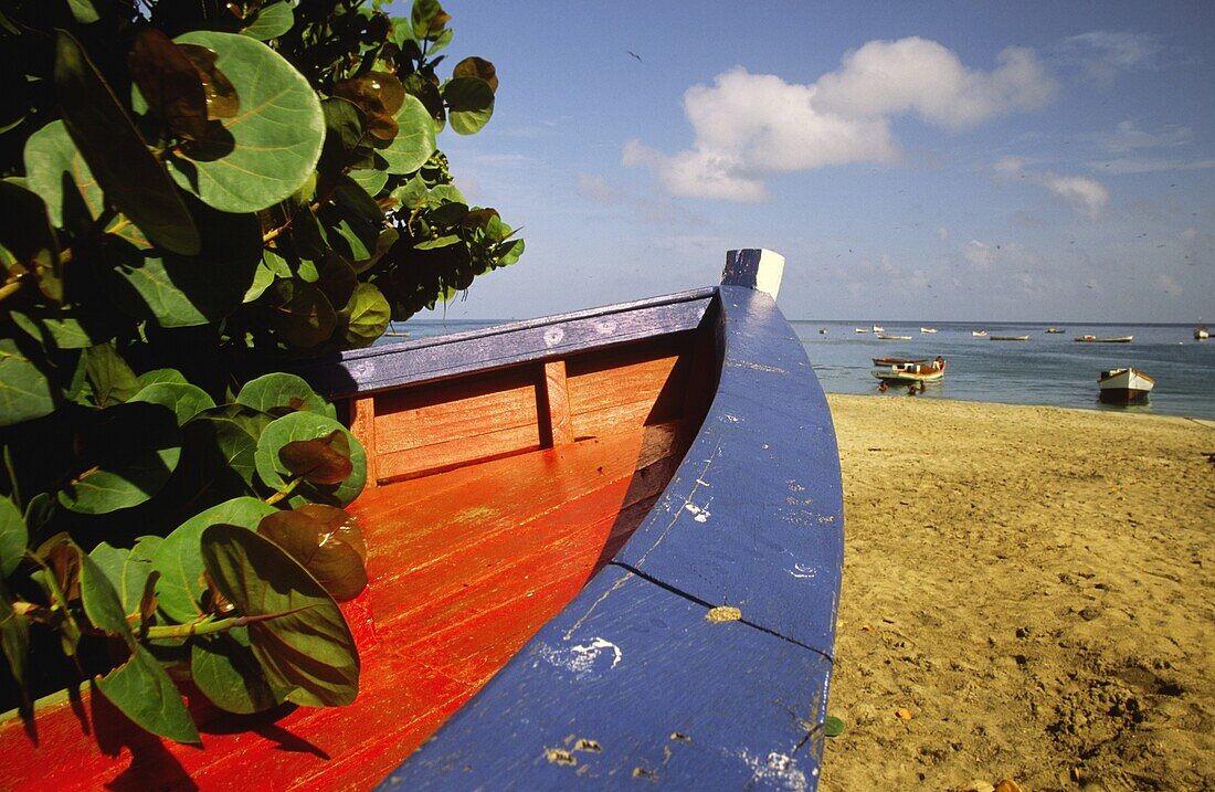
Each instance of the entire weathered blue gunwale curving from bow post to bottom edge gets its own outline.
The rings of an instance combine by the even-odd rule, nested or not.
[[[716,293],[706,321],[717,323],[720,379],[659,503],[587,587],[382,790],[504,777],[549,788],[572,783],[569,765],[578,763],[587,782],[606,782],[616,773],[635,775],[640,754],[654,754],[676,786],[705,777],[746,781],[753,775],[746,756],[784,753],[807,736],[808,751],[789,757],[787,769],[802,788],[814,787],[843,561],[835,429],[806,350],[775,302],[741,287]],[[660,640],[650,626],[654,598],[697,616],[671,630],[650,666],[614,674],[611,662],[589,673],[554,661],[570,651],[584,657],[595,646],[622,652],[617,661],[640,654],[628,630],[643,624],[649,640]],[[724,616],[734,627],[705,627],[712,612],[735,604],[741,611]],[[693,689],[716,684],[705,666],[729,662],[751,663],[717,691],[735,703],[738,723],[720,717],[729,708],[720,701],[689,706]],[[795,701],[796,718],[789,709]],[[734,753],[710,737],[714,730],[729,732]],[[678,745],[668,764],[662,741],[680,732],[695,739]],[[505,734],[512,739],[503,740]],[[560,748],[571,734],[593,737],[594,754]]]

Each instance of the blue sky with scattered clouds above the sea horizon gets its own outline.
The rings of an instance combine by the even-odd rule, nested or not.
[[[501,86],[440,146],[527,244],[450,318],[765,247],[791,318],[1215,319],[1215,4],[443,6]]]

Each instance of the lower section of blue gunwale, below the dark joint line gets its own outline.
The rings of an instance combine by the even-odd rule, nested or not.
[[[380,790],[813,788],[830,661],[609,566]]]

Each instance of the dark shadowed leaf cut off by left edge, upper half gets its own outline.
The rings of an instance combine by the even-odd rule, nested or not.
[[[10,277],[30,276],[47,300],[63,300],[60,243],[46,215],[46,204],[35,193],[0,180],[0,245],[12,255]]]

